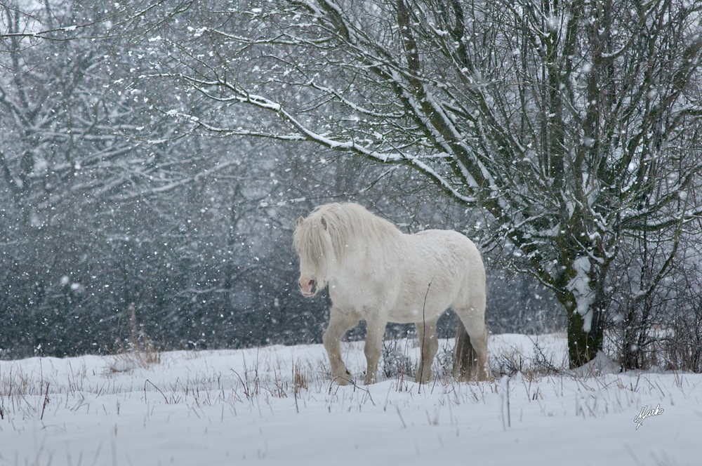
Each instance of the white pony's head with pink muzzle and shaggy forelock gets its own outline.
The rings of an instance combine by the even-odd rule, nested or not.
[[[336,255],[326,219],[319,211],[300,217],[293,234],[293,248],[300,256],[300,291],[311,298],[326,286],[336,265]]]

